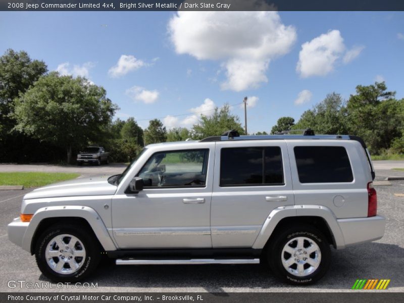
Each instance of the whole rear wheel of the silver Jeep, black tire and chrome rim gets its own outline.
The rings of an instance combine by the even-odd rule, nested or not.
[[[327,272],[331,251],[322,232],[301,224],[275,234],[269,243],[267,257],[279,279],[306,285],[316,282]]]

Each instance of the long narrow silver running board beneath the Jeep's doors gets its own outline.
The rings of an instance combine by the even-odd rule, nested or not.
[[[180,265],[180,264],[259,264],[260,259],[188,259],[188,260],[135,260],[117,259],[117,265]]]

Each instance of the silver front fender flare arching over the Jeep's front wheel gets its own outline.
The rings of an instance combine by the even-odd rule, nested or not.
[[[46,218],[78,217],[85,219],[105,250],[116,250],[107,228],[98,214],[86,206],[51,206],[38,209],[29,223],[22,240],[22,248],[31,251],[31,241],[39,223]]]

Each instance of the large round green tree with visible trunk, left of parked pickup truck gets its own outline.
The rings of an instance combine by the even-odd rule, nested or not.
[[[72,147],[99,139],[116,110],[103,87],[52,72],[15,99],[13,116],[17,131],[64,146],[70,163]]]

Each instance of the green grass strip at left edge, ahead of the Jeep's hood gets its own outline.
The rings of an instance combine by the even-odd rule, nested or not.
[[[24,187],[39,187],[60,181],[75,179],[78,176],[80,176],[80,174],[40,172],[0,173],[0,185],[24,185]]]

